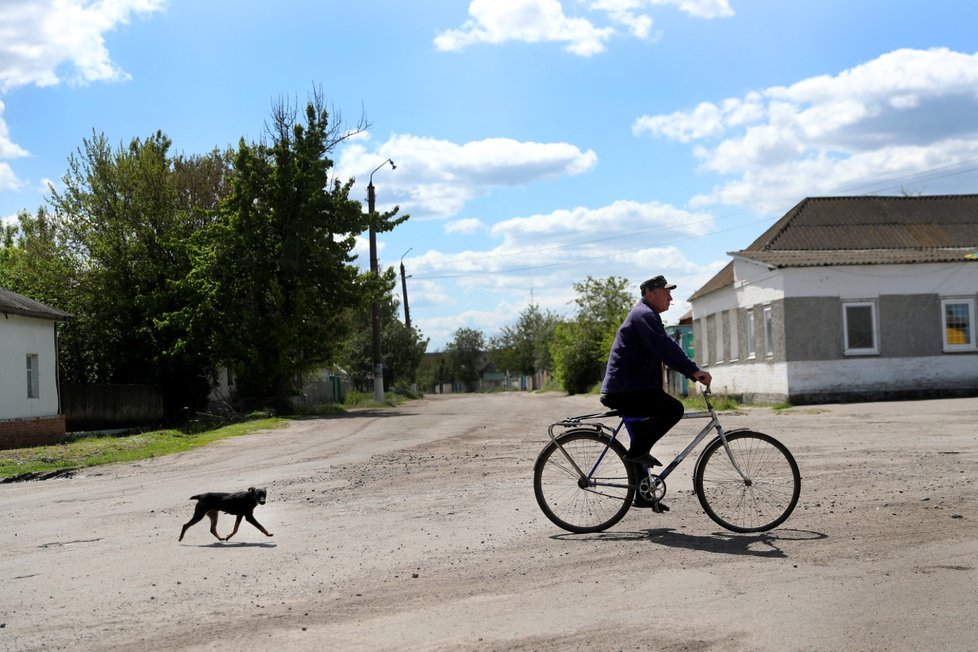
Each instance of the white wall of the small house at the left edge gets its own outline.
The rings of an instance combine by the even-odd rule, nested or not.
[[[0,419],[58,414],[58,360],[54,322],[0,315]],[[27,355],[37,354],[38,398],[27,398]]]

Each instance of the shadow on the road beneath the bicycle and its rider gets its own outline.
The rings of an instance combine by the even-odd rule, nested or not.
[[[597,532],[594,534],[556,534],[558,541],[622,542],[648,541],[670,548],[699,550],[722,555],[746,555],[750,557],[787,557],[781,548],[785,541],[819,541],[828,535],[811,530],[776,530],[758,534],[734,534],[715,532],[710,535],[687,534],[672,528],[651,528],[639,532]]]

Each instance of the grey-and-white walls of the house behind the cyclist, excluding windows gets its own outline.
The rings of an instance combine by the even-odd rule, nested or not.
[[[978,392],[978,351],[945,353],[941,317],[942,298],[978,296],[978,264],[768,270],[735,261],[737,274],[732,287],[693,306],[697,362],[714,375],[715,391],[794,403]],[[843,303],[862,300],[877,306],[879,354],[847,356]],[[770,356],[765,306],[774,318]],[[756,319],[753,359],[746,354],[749,307]]]

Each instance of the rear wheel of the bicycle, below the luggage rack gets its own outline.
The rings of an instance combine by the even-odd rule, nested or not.
[[[547,444],[533,466],[533,493],[543,513],[579,534],[620,521],[635,497],[635,471],[622,459],[625,447],[617,440],[609,446],[607,435],[590,429],[569,430],[557,442]],[[590,477],[582,478],[568,456]]]

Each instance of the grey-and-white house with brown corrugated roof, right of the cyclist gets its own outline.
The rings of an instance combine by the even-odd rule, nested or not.
[[[809,198],[730,255],[690,297],[715,391],[978,393],[978,195]]]

